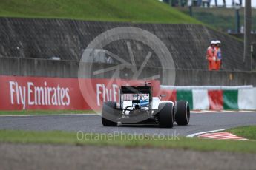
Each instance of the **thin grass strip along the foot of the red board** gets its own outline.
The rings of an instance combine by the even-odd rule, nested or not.
[[[0,111],[0,115],[62,115],[94,113],[93,110],[14,110]]]

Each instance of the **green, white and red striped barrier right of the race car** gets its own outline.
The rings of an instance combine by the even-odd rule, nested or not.
[[[188,101],[194,110],[256,109],[256,88],[247,89],[166,89],[165,101]]]

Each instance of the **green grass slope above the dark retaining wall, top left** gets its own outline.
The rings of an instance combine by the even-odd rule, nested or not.
[[[0,16],[202,24],[158,0],[1,0]]]

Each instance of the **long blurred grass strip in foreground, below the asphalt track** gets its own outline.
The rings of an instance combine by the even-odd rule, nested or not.
[[[82,135],[83,134],[83,135]],[[102,137],[99,137],[99,136]],[[84,136],[84,137],[83,137]],[[86,136],[86,137],[85,137]],[[76,132],[30,132],[0,130],[0,142],[4,143],[47,143],[68,145],[96,145],[96,146],[127,146],[127,147],[156,147],[171,149],[193,149],[198,151],[226,151],[256,153],[255,141],[232,140],[203,140],[197,138],[152,137],[151,135],[118,135],[106,136],[102,134]]]

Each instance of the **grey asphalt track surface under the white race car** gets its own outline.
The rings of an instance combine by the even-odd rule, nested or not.
[[[229,129],[235,126],[255,125],[256,112],[204,112],[191,113],[188,126],[174,126],[172,129],[161,129],[158,126],[117,126],[104,127],[99,115],[32,115],[0,116],[0,129],[23,130],[62,130],[73,132],[99,133],[136,133],[163,135],[190,135],[217,129]]]

